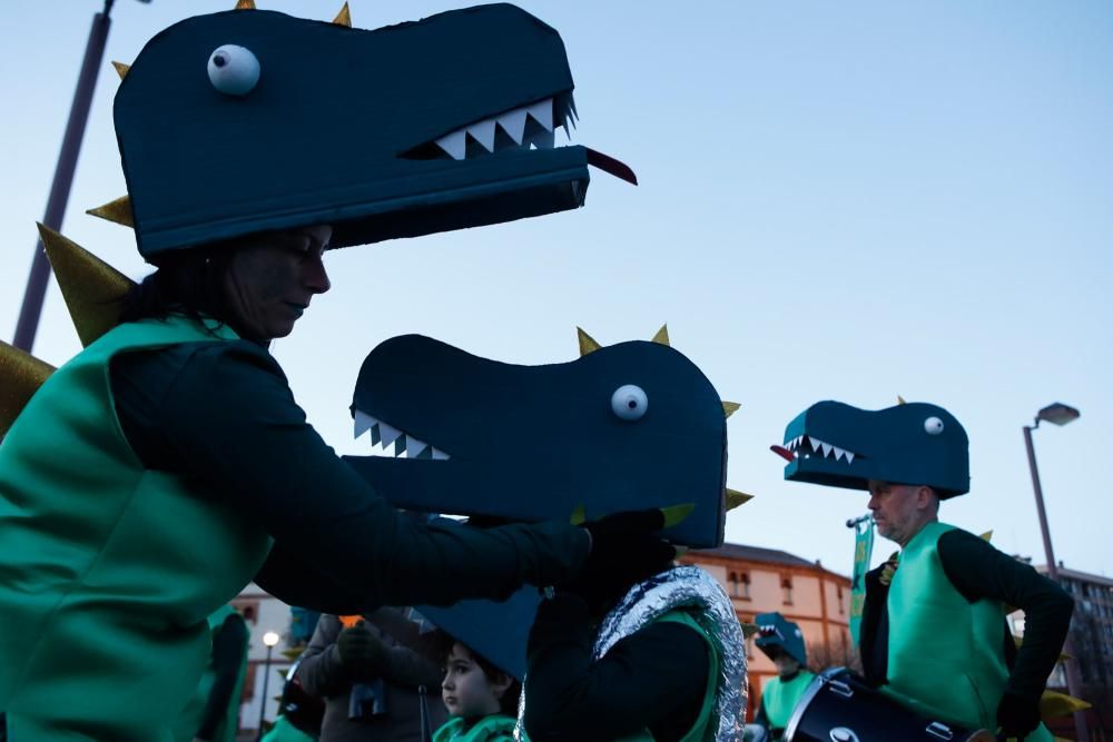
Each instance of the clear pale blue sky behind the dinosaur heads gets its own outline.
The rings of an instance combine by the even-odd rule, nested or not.
[[[324,20],[339,7],[259,3]],[[4,7],[4,339],[101,4]],[[132,277],[147,268],[130,234],[83,214],[125,192],[108,60],[233,4],[112,11],[63,231]],[[351,4],[355,26],[376,28],[464,3]],[[668,321],[742,404],[728,482],[758,497],[730,515],[728,540],[848,573],[841,523],[865,496],[784,482],[768,446],[812,402],[879,408],[899,394],[947,407],[971,436],[972,493],[944,520],[1043,562],[1021,426],[1062,400],[1081,419],[1035,433],[1056,556],[1113,574],[1113,6],[521,4],[564,38],[573,140],[630,164],[641,185],[595,171],[573,212],[329,254],[333,291],[273,348],[329,443],[361,451],[351,389],[387,337],[543,364],[575,355],[577,325],[605,345]],[[36,354],[60,364],[78,349],[52,287]],[[889,552],[879,543],[875,557]]]

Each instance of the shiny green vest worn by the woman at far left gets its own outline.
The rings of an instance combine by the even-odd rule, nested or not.
[[[0,445],[0,709],[12,742],[165,742],[208,661],[207,617],[270,541],[188,482],[147,471],[109,362],[217,337],[121,325],[59,368]]]

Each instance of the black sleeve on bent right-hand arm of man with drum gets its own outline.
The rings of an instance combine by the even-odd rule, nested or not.
[[[1037,702],[1066,641],[1074,610],[1071,596],[1027,564],[965,531],[943,534],[938,551],[944,573],[967,601],[989,598],[1024,611],[1024,644],[1005,690]]]

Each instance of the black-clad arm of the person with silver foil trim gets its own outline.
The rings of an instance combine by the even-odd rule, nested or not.
[[[708,649],[690,627],[659,622],[592,662],[594,627],[574,595],[545,601],[530,631],[525,729],[534,742],[605,742],[649,728],[678,740],[695,723]]]

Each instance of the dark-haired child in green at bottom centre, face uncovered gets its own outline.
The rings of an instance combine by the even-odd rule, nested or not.
[[[452,641],[441,682],[441,699],[451,719],[433,733],[433,742],[510,742],[520,691],[510,673]]]

